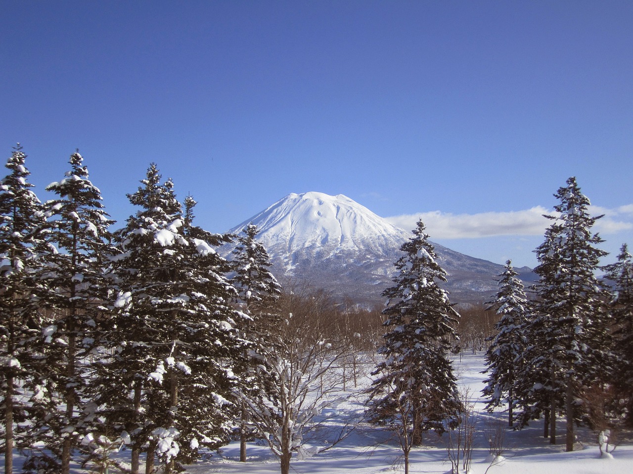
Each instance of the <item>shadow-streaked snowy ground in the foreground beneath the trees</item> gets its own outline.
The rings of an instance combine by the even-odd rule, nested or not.
[[[633,443],[630,434],[622,434],[622,444],[613,452],[613,458],[600,458],[596,435],[587,428],[579,428],[575,451],[565,453],[565,427],[561,420],[558,443],[549,444],[542,437],[542,421],[514,431],[506,428],[506,413],[489,414],[480,399],[484,369],[482,355],[464,355],[454,361],[460,384],[470,393],[477,418],[477,436],[471,471],[473,474],[606,474],[633,471]],[[361,401],[349,403],[347,410],[363,411]],[[503,423],[505,431],[505,461],[491,466],[486,430],[495,422]],[[427,434],[424,446],[414,448],[410,456],[410,473],[444,474],[451,471],[446,451],[446,434],[437,437]],[[189,466],[189,474],[278,473],[279,463],[267,447],[251,443],[248,462],[239,462],[239,444],[232,443],[222,449],[220,456]],[[403,472],[401,451],[388,432],[361,424],[347,439],[329,451],[308,459],[292,459],[291,472],[318,474],[373,474]]]

